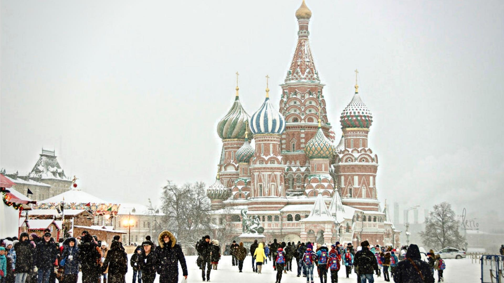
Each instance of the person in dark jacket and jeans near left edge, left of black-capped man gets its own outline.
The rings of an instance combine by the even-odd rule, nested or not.
[[[35,249],[30,243],[28,233],[21,233],[21,240],[14,245],[16,251],[16,282],[25,283],[28,273],[33,270],[33,253]]]

